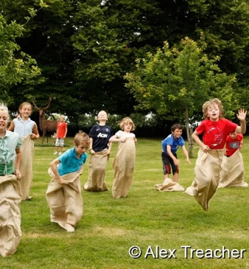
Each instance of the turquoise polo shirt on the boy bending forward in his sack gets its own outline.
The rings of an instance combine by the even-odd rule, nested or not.
[[[78,159],[76,157],[75,147],[73,147],[61,154],[58,159],[60,160],[58,165],[58,173],[60,176],[62,176],[79,171],[83,163],[85,163],[87,160],[87,153],[85,152]]]

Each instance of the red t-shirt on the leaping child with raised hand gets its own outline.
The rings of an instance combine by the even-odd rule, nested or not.
[[[196,132],[203,134],[205,145],[208,145],[212,149],[222,149],[224,148],[228,134],[234,133],[237,126],[237,124],[226,119],[219,119],[218,122],[205,120],[196,128]]]

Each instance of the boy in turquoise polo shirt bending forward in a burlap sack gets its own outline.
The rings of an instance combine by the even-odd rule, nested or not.
[[[79,176],[87,159],[90,138],[80,132],[74,137],[74,147],[50,163],[48,173],[52,180],[46,198],[51,222],[58,223],[67,232],[74,232],[83,216],[83,201]],[[57,168],[58,165],[58,168]]]

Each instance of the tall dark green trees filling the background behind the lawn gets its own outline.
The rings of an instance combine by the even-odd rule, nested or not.
[[[135,100],[123,76],[134,60],[185,36],[205,36],[205,53],[219,56],[227,74],[237,74],[234,100],[249,105],[249,3],[247,0],[47,0],[17,44],[36,59],[45,78],[38,87],[13,87],[15,107],[34,95],[41,106],[51,94],[52,111],[130,114]],[[36,0],[1,1],[7,23],[25,23]],[[24,94],[24,97],[23,97]],[[243,97],[243,98],[241,98]]]

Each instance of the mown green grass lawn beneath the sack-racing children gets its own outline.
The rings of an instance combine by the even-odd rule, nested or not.
[[[50,138],[50,142],[52,138]],[[73,138],[66,144],[72,145]],[[36,143],[40,143],[36,141]],[[183,192],[158,192],[162,183],[161,140],[138,139],[133,182],[126,199],[113,199],[112,161],[117,152],[114,143],[108,162],[106,183],[109,191],[82,191],[84,216],[75,233],[67,233],[50,223],[45,192],[50,181],[49,163],[54,147],[35,147],[31,195],[21,203],[22,238],[16,253],[0,258],[0,268],[248,268],[249,269],[249,188],[219,189],[210,201],[208,212]],[[64,148],[65,150],[69,147]],[[195,146],[194,154],[197,155]],[[249,138],[243,146],[245,181],[249,181]],[[181,148],[179,183],[185,189],[194,179],[192,165],[185,162]],[[87,181],[88,165],[81,176]],[[128,250],[138,246],[142,255],[132,259]],[[176,259],[144,258],[149,246],[176,249]],[[246,249],[244,258],[185,258],[182,246],[192,249]],[[156,255],[156,254],[155,254]]]

